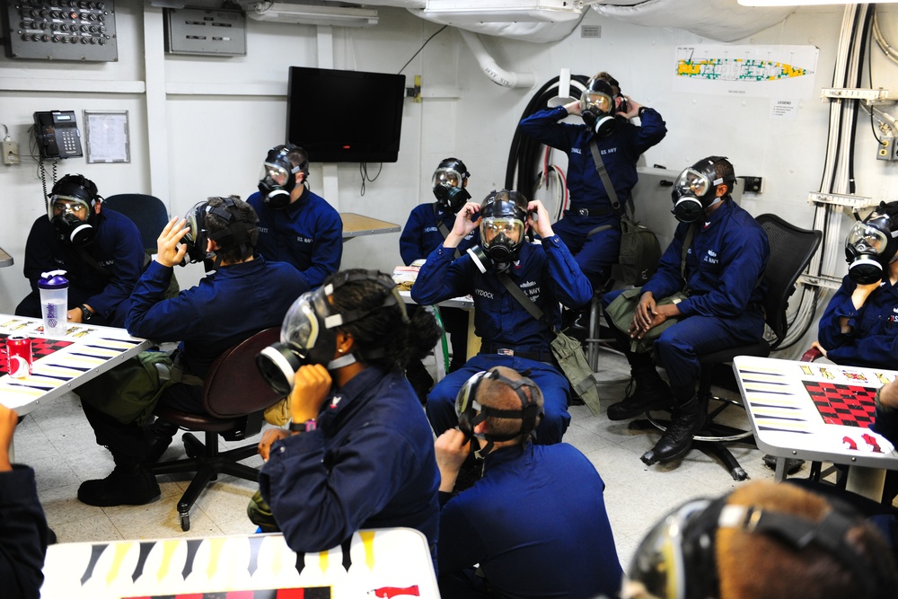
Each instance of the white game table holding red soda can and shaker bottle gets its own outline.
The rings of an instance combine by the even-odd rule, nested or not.
[[[34,366],[22,379],[6,374],[5,339],[10,335],[31,338]],[[48,336],[40,319],[0,313],[0,401],[24,416],[150,345],[124,329],[86,324],[72,324],[61,337]]]

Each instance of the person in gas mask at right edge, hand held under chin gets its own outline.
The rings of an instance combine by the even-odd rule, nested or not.
[[[848,275],[814,347],[832,362],[894,368],[898,355],[898,202],[881,203],[845,240]]]

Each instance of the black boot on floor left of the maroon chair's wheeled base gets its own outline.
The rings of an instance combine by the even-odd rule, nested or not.
[[[143,506],[160,496],[154,475],[136,458],[116,456],[115,469],[101,480],[85,480],[78,500],[88,506]]]

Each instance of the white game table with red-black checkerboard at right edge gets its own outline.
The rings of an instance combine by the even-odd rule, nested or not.
[[[898,373],[749,356],[733,369],[758,447],[777,458],[775,480],[786,478],[786,458],[833,462],[850,466],[847,489],[882,496],[884,469],[898,469],[898,453],[867,426],[876,389]]]

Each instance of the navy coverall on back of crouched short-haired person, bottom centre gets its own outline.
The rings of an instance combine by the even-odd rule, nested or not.
[[[594,465],[567,443],[490,452],[471,489],[451,499],[440,493],[440,595],[617,596],[621,562],[604,489]]]

